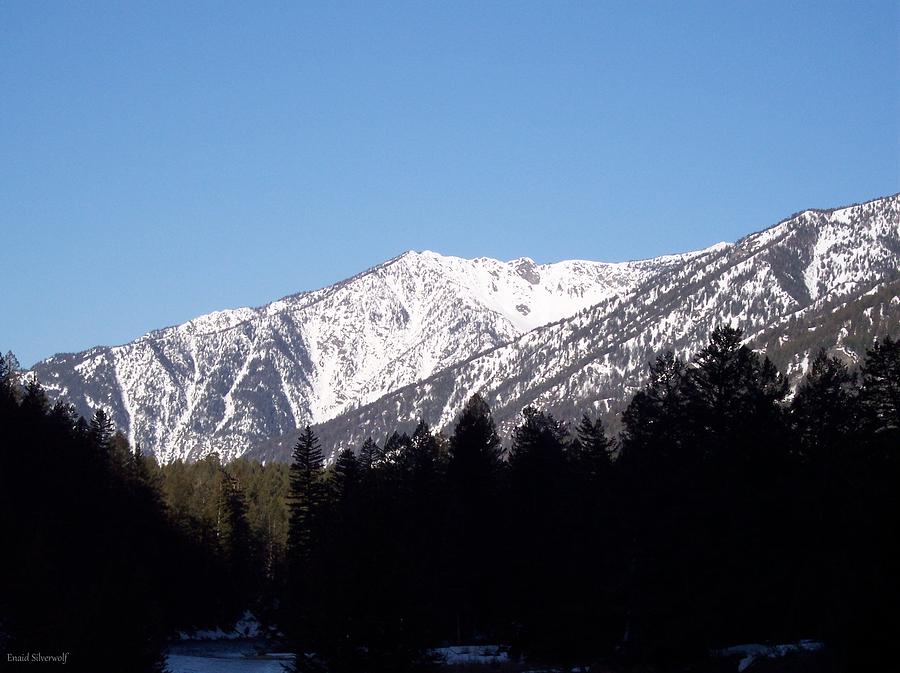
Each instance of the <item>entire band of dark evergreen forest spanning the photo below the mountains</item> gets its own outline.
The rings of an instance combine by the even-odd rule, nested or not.
[[[98,411],[0,361],[0,650],[159,671],[179,630],[245,609],[298,670],[412,671],[452,643],[669,670],[742,642],[824,641],[877,670],[900,604],[900,342],[820,353],[799,390],[717,330],[651,365],[611,437],[469,400],[326,468],[156,464]]]

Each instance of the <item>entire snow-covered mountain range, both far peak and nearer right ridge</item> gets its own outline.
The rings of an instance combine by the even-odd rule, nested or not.
[[[780,349],[794,371],[819,343],[856,343],[866,321],[896,332],[898,229],[895,195],[638,262],[408,252],[322,290],[57,355],[33,371],[79,412],[111,410],[162,460],[250,449],[284,457],[307,422],[323,424],[329,448],[382,436],[398,418],[445,427],[476,391],[506,428],[531,403],[564,418],[607,412],[640,385],[653,354],[687,355],[719,323]],[[868,317],[840,329],[826,320],[864,297]],[[803,331],[804,321],[819,327]],[[792,352],[795,341],[805,350]]]

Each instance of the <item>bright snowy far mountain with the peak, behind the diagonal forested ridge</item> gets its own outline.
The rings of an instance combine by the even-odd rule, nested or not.
[[[229,459],[371,402],[542,324],[631,291],[688,255],[537,265],[408,252],[349,280],[217,311],[33,371],[82,414],[104,407],[161,460]]]

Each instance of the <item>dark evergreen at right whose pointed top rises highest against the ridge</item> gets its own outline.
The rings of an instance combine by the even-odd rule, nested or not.
[[[697,612],[697,631],[687,640],[704,648],[742,634],[794,635],[785,598],[792,587],[773,571],[796,549],[785,516],[794,470],[781,406],[788,387],[741,340],[739,330],[714,330],[685,377],[687,440],[699,463],[683,473],[694,497],[680,497],[676,511],[696,539],[680,558]],[[714,616],[722,611],[730,618]]]

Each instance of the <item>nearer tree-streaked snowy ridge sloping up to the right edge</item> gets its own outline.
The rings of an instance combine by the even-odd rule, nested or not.
[[[320,427],[325,446],[359,446],[419,418],[448,428],[479,392],[509,435],[521,409],[615,423],[647,363],[702,348],[719,324],[744,331],[796,383],[821,347],[858,362],[875,338],[900,336],[900,195],[808,210],[734,245],[646,267],[630,289],[537,328]],[[256,455],[284,458],[292,437]]]

